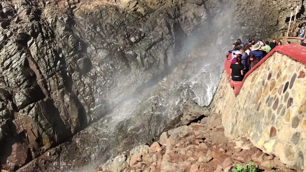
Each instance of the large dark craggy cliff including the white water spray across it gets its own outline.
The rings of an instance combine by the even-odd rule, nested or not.
[[[7,171],[74,171],[151,142],[186,102],[210,102],[234,33],[227,5],[213,0],[17,0],[0,9]]]

